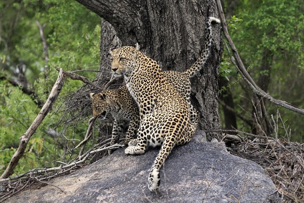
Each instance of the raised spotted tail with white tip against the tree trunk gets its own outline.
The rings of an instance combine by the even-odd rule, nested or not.
[[[210,55],[210,47],[211,47],[211,41],[212,41],[212,29],[211,24],[217,24],[220,23],[220,20],[214,17],[208,17],[206,20],[206,26],[205,26],[205,44],[204,44],[204,50],[201,54],[201,56],[195,61],[195,63],[186,71],[183,73],[186,74],[189,78],[196,75],[199,71],[201,71],[202,67],[205,65],[208,56]]]

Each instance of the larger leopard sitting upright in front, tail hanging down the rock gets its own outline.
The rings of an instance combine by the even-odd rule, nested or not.
[[[210,17],[207,24],[212,21],[218,19]],[[162,145],[148,178],[149,190],[156,191],[160,185],[159,170],[173,147],[193,138],[195,126],[191,123],[189,106],[153,59],[131,46],[114,49],[110,54],[113,74],[124,75],[126,86],[139,106],[137,144],[129,146],[125,153],[143,154],[147,145]],[[187,73],[194,75],[200,68],[198,63]]]

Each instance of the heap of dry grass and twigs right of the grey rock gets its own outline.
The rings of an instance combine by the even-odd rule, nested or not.
[[[304,202],[304,143],[226,136],[231,154],[258,163],[277,186],[283,202]]]

